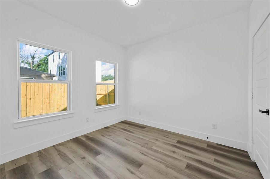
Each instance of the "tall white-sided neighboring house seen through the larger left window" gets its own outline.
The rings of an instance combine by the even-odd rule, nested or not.
[[[54,74],[53,80],[67,80],[67,54],[53,51],[48,55],[48,72]]]

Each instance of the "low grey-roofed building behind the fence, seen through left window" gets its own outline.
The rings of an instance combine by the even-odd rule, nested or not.
[[[37,80],[53,80],[56,77],[54,74],[41,72],[38,70],[34,70],[32,68],[22,67],[20,66],[21,78],[30,78]]]

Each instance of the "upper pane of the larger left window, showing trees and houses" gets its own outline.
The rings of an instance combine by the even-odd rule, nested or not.
[[[20,77],[22,79],[37,79],[37,80],[61,80],[67,81],[67,76],[58,78],[60,71],[59,65],[52,63],[54,54],[63,56],[60,64],[66,67],[67,54],[60,53],[49,49],[34,47],[27,44],[19,44],[20,46]],[[49,69],[51,72],[49,73]]]

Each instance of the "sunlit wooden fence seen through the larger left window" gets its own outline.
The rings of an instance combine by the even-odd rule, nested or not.
[[[67,110],[66,83],[21,83],[21,117]]]

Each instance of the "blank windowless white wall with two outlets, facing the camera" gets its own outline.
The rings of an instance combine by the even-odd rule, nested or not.
[[[248,28],[243,10],[128,47],[127,119],[247,149]]]

